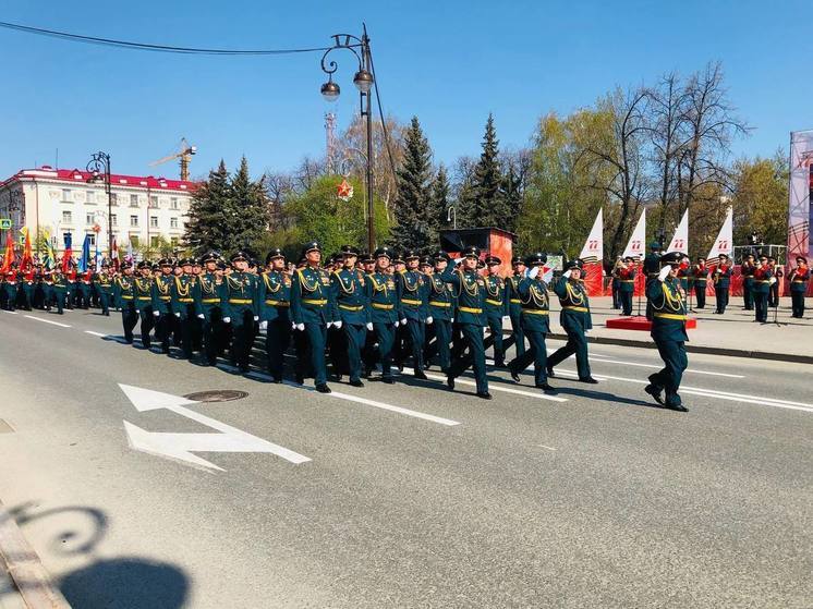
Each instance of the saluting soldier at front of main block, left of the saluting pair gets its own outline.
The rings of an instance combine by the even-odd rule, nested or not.
[[[463,342],[469,352],[452,358],[449,373],[446,375],[446,385],[454,389],[454,379],[471,366],[477,386],[477,398],[490,400],[488,392],[488,378],[486,377],[486,353],[483,344],[483,327],[485,317],[483,305],[485,304],[485,281],[477,275],[477,261],[480,260],[480,248],[470,245],[463,248],[459,265],[449,265],[440,279],[450,283],[457,296],[457,322],[463,334]]]

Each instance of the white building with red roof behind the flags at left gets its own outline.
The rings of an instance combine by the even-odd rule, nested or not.
[[[50,236],[58,252],[72,235],[73,249],[90,235],[92,247],[108,254],[112,235],[121,251],[156,247],[161,240],[181,247],[195,183],[163,178],[110,176],[110,204],[105,184],[77,169],[23,169],[0,183],[0,218],[19,234]],[[3,239],[3,243],[5,243]]]

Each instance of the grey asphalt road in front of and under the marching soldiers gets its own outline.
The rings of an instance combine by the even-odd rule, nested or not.
[[[643,392],[646,349],[591,349],[597,386],[566,362],[560,401],[493,370],[485,402],[409,377],[323,395],[120,334],[0,312],[0,498],[75,607],[813,606],[810,366],[690,354],[681,414]],[[248,395],[141,412],[120,385]],[[191,464],[124,422],[308,461]]]

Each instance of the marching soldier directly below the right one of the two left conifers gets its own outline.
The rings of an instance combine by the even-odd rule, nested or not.
[[[247,373],[254,322],[259,319],[259,287],[257,276],[248,272],[245,252],[232,254],[230,261],[232,270],[223,277],[223,321],[231,325],[231,361]]]

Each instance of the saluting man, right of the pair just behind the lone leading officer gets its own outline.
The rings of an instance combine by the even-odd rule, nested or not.
[[[579,380],[582,382],[598,382],[591,376],[590,360],[587,357],[587,339],[584,333],[593,328],[590,315],[590,301],[582,277],[582,261],[571,260],[565,266],[565,272],[559,281],[554,283],[554,292],[559,296],[561,313],[559,322],[568,334],[568,342],[548,357],[548,376],[554,376],[554,368],[575,353],[575,367]],[[655,278],[657,279],[657,277]]]

